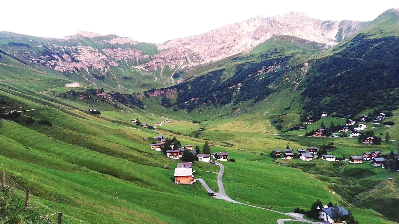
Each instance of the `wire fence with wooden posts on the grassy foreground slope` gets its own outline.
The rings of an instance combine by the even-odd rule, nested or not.
[[[16,196],[19,198],[22,202],[26,200],[26,192],[27,189],[22,187],[17,183],[17,181],[14,181],[14,179],[6,174],[5,175],[5,185],[9,186],[9,191],[12,193],[12,195]],[[43,202],[39,200],[38,197],[29,194],[29,206],[28,210],[32,210],[36,212],[40,218],[43,220],[42,223],[44,224],[58,224],[59,223],[59,213],[60,212],[55,212],[53,209],[51,209],[49,206],[45,205]],[[0,224],[1,224],[0,220]],[[30,222],[32,223],[32,222]],[[69,222],[69,220],[65,219],[65,216],[62,216],[62,223],[64,224],[72,224]]]

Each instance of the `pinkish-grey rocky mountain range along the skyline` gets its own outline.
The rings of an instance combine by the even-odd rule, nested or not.
[[[154,45],[138,43],[130,37],[87,31],[63,39],[24,36],[18,38],[23,39],[20,45],[15,44],[12,35],[0,33],[0,44],[22,61],[60,72],[86,71],[90,75],[90,71],[95,70],[111,75],[113,67],[127,65],[140,72],[160,68],[162,75],[164,68],[173,74],[186,67],[249,51],[275,35],[291,35],[332,46],[367,24],[350,20],[323,22],[300,12],[291,12],[269,18],[259,16],[201,35]]]

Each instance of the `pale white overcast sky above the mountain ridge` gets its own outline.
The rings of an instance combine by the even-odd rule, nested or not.
[[[0,31],[63,37],[79,30],[158,43],[256,16],[304,12],[320,20],[370,21],[397,0],[2,0]]]

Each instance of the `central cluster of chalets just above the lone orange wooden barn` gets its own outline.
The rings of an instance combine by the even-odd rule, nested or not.
[[[164,136],[154,136],[154,139],[158,140],[159,143],[152,143],[150,144],[150,148],[154,151],[162,151],[162,144],[166,143],[166,138]],[[172,147],[174,146],[174,142],[170,143]],[[211,143],[211,145],[215,145]],[[229,153],[227,152],[217,152],[212,154],[199,154],[195,149],[194,145],[184,145],[183,148],[179,149],[169,149],[166,151],[166,156],[169,159],[181,159],[183,157],[184,150],[190,150],[197,158],[199,162],[209,163],[211,161],[211,157],[213,159],[219,161],[227,161],[229,157]]]

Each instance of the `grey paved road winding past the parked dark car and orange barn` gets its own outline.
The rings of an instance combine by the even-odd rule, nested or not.
[[[255,206],[255,205],[252,205],[252,204],[245,204],[243,202],[239,202],[239,201],[231,199],[226,194],[226,191],[225,191],[225,188],[224,188],[223,182],[222,182],[222,177],[223,177],[223,173],[224,173],[224,166],[221,163],[219,163],[219,162],[215,162],[215,163],[216,163],[216,165],[218,165],[220,167],[220,171],[219,171],[219,173],[217,173],[217,185],[219,186],[219,193],[216,193],[217,196],[215,198],[222,199],[222,200],[227,200],[227,201],[235,203],[235,204],[243,204],[243,205],[251,206],[251,207],[254,207],[254,208],[268,210],[268,211],[271,211],[271,212],[276,212],[276,213],[279,213],[279,214],[284,214],[286,216],[291,216],[292,218],[295,218],[295,219],[279,219],[279,220],[277,220],[278,224],[284,224],[284,221],[298,221],[298,222],[307,222],[307,223],[311,223],[311,224],[319,224],[317,222],[312,222],[310,220],[307,220],[307,219],[304,219],[304,218],[301,218],[301,217],[298,217],[298,216],[294,216],[292,214],[287,214],[287,213],[284,213],[284,212],[279,212],[279,211],[271,210],[271,209],[268,209],[268,208],[262,208],[262,207]],[[208,192],[212,191],[203,179],[198,178],[197,180],[199,182],[201,182],[203,187],[205,187],[205,189]]]

